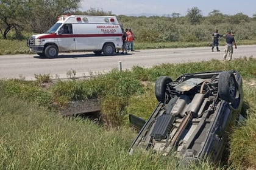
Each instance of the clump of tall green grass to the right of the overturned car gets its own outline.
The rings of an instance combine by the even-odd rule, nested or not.
[[[230,143],[230,160],[235,165],[242,165],[243,167],[256,165],[256,104],[254,102],[256,96],[256,87],[244,88],[244,115],[247,120],[242,122],[240,126],[236,127],[232,134]]]

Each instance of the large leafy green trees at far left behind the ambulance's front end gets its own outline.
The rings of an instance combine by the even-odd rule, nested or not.
[[[21,31],[45,32],[58,15],[75,12],[81,0],[1,0],[0,32],[4,39],[11,30],[20,37]]]

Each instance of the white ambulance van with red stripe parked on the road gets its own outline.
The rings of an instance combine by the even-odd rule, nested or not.
[[[113,55],[122,47],[123,32],[116,16],[61,15],[57,20],[46,33],[30,36],[30,52],[47,58],[77,51]]]

